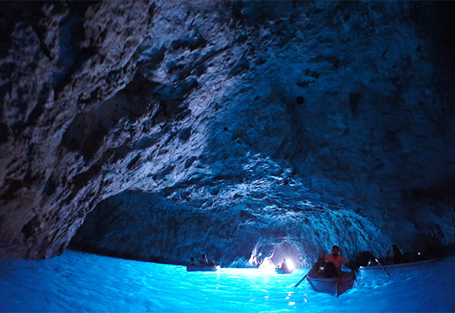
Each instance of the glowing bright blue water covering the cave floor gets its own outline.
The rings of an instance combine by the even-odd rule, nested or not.
[[[455,312],[455,257],[387,277],[358,277],[332,297],[294,287],[306,270],[186,268],[67,251],[0,258],[1,312]]]

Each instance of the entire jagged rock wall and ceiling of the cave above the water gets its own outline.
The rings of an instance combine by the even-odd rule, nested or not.
[[[453,13],[9,3],[0,254],[62,253],[84,220],[75,247],[173,263],[453,245]]]

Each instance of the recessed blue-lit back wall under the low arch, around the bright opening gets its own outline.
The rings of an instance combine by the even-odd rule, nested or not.
[[[205,253],[223,267],[257,267],[266,258],[275,265],[287,258],[309,266],[335,243],[350,256],[390,245],[378,226],[350,209],[294,199],[271,204],[266,198],[200,207],[138,191],[120,193],[87,215],[72,247],[173,264]]]

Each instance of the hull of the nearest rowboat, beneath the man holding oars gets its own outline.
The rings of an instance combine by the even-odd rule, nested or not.
[[[324,278],[317,270],[310,270],[306,276],[309,284],[317,292],[323,292],[328,295],[340,296],[353,288],[355,281],[354,272],[342,272],[343,277]]]

